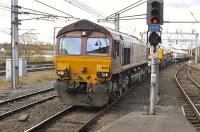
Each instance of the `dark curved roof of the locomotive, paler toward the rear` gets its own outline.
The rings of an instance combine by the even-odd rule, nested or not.
[[[130,36],[128,34],[115,31],[111,28],[98,25],[98,24],[93,23],[93,22],[86,20],[86,19],[79,20],[75,23],[72,23],[68,26],[65,26],[64,28],[62,28],[58,32],[57,37],[59,37],[62,34],[68,33],[68,32],[80,31],[80,30],[83,30],[83,31],[84,30],[98,31],[98,32],[101,32],[101,33],[104,33],[104,34],[111,36],[115,40],[123,39],[124,41],[133,42],[133,39],[134,39],[134,41],[140,41],[135,36]]]

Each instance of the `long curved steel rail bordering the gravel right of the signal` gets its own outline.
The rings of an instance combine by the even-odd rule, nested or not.
[[[181,66],[177,71],[176,71],[176,74],[175,74],[175,79],[176,79],[176,82],[181,90],[181,92],[183,93],[184,97],[186,98],[186,100],[188,101],[188,104],[190,105],[190,107],[193,109],[193,111],[195,112],[197,118],[200,120],[200,113],[198,111],[198,109],[196,108],[195,104],[192,102],[192,100],[190,99],[190,97],[187,95],[186,91],[184,90],[184,88],[181,86],[180,82],[178,81],[178,73],[180,72],[180,70],[183,68],[184,66]]]

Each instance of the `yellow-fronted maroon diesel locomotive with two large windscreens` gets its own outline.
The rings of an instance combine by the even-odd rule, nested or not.
[[[79,20],[57,34],[54,88],[66,104],[104,106],[147,73],[148,54],[134,36]]]

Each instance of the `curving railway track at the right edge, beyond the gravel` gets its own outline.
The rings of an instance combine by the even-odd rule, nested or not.
[[[183,113],[200,131],[200,85],[191,77],[191,67],[183,65],[175,74],[176,82],[185,98]]]

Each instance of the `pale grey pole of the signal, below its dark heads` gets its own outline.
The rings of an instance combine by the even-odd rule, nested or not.
[[[156,46],[153,46],[153,53],[152,53],[152,62],[151,62],[151,87],[150,87],[150,106],[149,106],[149,114],[155,114],[155,102],[156,99],[156,83],[157,83],[157,75],[156,75],[156,67],[157,67],[157,52]]]

